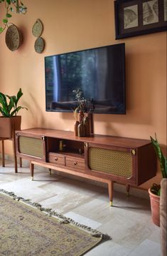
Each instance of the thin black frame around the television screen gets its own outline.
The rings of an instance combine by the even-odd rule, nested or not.
[[[124,77],[124,81],[123,81],[123,99],[124,99],[124,111],[119,112],[119,113],[96,113],[96,111],[94,111],[93,113],[94,114],[104,114],[104,115],[126,115],[126,77],[125,77],[125,43],[115,43],[115,44],[112,44],[112,45],[107,45],[107,46],[99,46],[99,47],[95,47],[95,48],[86,48],[86,49],[82,49],[82,50],[77,50],[77,51],[68,51],[68,52],[65,52],[65,53],[58,53],[58,54],[53,54],[53,55],[50,55],[50,56],[45,56],[44,59],[46,58],[49,58],[49,57],[53,57],[53,56],[60,56],[60,55],[65,55],[65,54],[68,54],[68,53],[77,53],[77,52],[82,52],[82,51],[90,51],[90,50],[96,50],[96,49],[99,49],[99,48],[107,48],[107,47],[117,47],[117,46],[123,46],[122,48],[122,51],[123,51],[123,60],[122,60],[122,63],[124,64],[124,70],[123,70],[123,73],[122,73],[122,77]],[[45,61],[44,61],[45,62]],[[45,66],[45,65],[44,65]],[[46,67],[45,67],[46,69]],[[47,101],[46,101],[46,74],[45,74],[45,111],[46,112],[57,112],[57,113],[72,113],[72,109],[68,109],[68,110],[65,110],[65,109],[54,109],[54,110],[51,110],[51,109],[47,109],[46,108],[47,106]]]

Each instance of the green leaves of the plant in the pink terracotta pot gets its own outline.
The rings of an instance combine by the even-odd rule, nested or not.
[[[156,151],[156,155],[160,164],[160,168],[161,168],[161,174],[163,178],[167,178],[167,159],[165,157],[165,155],[163,155],[163,152],[161,150],[161,147],[158,143],[158,140],[156,138],[156,134],[155,134],[155,139],[151,138],[151,143],[153,145],[154,150]],[[160,195],[161,194],[161,186],[153,183],[153,185],[151,186],[151,192],[155,195]]]

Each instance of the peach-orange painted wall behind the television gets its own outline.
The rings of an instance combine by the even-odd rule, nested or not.
[[[23,34],[14,52],[0,35],[0,91],[15,94],[22,88],[22,128],[44,127],[73,130],[72,113],[45,112],[44,56],[85,48],[126,43],[126,115],[95,114],[95,133],[146,138],[156,132],[166,148],[166,32],[115,40],[113,0],[23,0],[25,16],[14,14],[11,22]],[[0,14],[1,14],[0,10]],[[45,51],[34,51],[32,26],[43,21]],[[12,154],[11,142],[6,153]],[[149,188],[156,178],[141,185]]]

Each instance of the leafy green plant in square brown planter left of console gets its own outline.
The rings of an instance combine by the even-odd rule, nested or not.
[[[18,101],[23,96],[21,88],[16,96],[8,96],[0,92],[0,137],[12,138],[14,130],[21,130],[21,116],[17,116],[18,111],[23,108],[18,106]],[[27,108],[26,108],[27,110]]]

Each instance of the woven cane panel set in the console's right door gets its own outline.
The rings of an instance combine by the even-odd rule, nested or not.
[[[131,154],[122,151],[90,148],[89,166],[92,170],[124,178],[129,178],[132,174]]]

